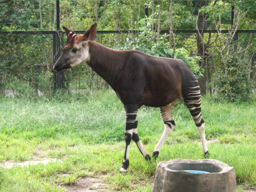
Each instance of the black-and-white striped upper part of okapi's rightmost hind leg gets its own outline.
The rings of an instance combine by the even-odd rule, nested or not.
[[[195,75],[191,75],[190,81],[183,88],[183,97],[186,107],[192,115],[192,118],[197,127],[204,123],[201,115],[201,93],[198,80]]]

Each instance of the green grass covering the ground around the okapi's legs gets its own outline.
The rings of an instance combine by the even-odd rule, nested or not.
[[[204,96],[202,113],[210,158],[233,166],[238,191],[256,187],[256,102],[215,102]],[[200,137],[189,111],[174,110],[177,125],[156,162],[143,160],[132,143],[128,174],[119,174],[125,142],[125,111],[113,91],[52,98],[0,98],[0,162],[58,158],[47,165],[0,168],[0,191],[65,191],[79,179],[100,175],[108,190],[151,191],[157,163],[175,158],[202,159]],[[138,112],[140,139],[152,154],[163,122],[157,108]]]

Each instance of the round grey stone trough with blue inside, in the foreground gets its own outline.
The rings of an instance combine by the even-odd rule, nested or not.
[[[187,170],[207,173],[191,173]],[[175,159],[157,165],[153,192],[235,192],[233,167],[218,160]]]

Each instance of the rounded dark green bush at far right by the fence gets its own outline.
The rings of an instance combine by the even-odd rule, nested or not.
[[[236,52],[228,55],[223,61],[226,67],[217,74],[214,83],[219,99],[238,102],[247,101],[252,97],[255,84],[248,79],[250,69],[247,62],[247,59],[239,57]]]

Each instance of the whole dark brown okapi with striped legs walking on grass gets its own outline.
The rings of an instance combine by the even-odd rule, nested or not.
[[[156,57],[138,50],[115,50],[94,41],[97,24],[84,35],[64,27],[67,43],[61,57],[53,66],[60,71],[85,61],[116,92],[125,107],[125,155],[120,172],[129,166],[131,140],[137,144],[146,160],[151,160],[138,136],[137,110],[142,106],[160,108],[164,131],[153,157],[157,158],[164,142],[175,128],[172,110],[181,99],[189,109],[198,128],[204,156],[208,157],[201,115],[201,94],[198,81],[189,66],[180,59]]]

